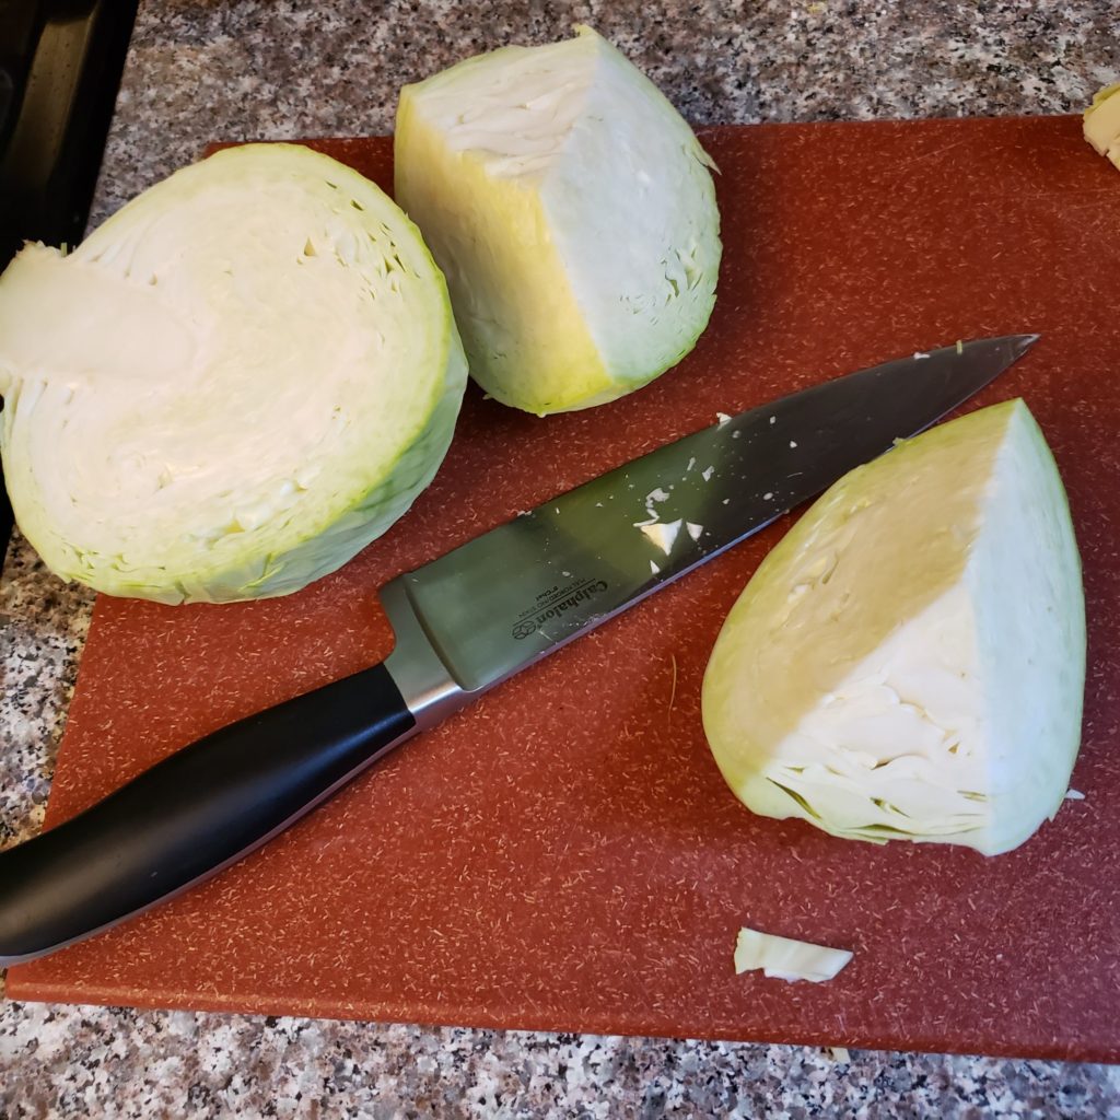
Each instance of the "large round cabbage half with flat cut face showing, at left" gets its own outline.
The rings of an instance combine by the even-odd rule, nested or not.
[[[64,579],[162,603],[297,591],[431,480],[466,358],[416,230],[308,148],[228,149],[0,278],[0,449]]]

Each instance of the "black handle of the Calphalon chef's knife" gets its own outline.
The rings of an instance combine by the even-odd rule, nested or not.
[[[0,852],[0,965],[115,925],[234,862],[416,730],[374,665],[184,747]]]

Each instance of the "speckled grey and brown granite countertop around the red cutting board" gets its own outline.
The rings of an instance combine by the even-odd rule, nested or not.
[[[93,223],[209,140],[389,132],[401,83],[576,21],[697,124],[1058,113],[1120,77],[1111,0],[150,0]],[[0,846],[41,824],[91,606],[17,534],[0,584]],[[0,1068],[11,1118],[1120,1117],[1120,1067],[11,1000]]]

